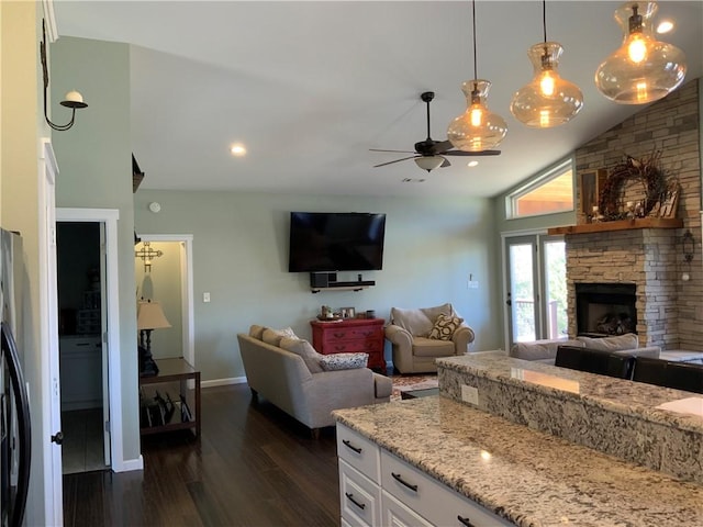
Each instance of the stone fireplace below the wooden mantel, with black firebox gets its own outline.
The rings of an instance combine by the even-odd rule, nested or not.
[[[606,316],[622,316],[620,330],[634,328],[640,346],[676,346],[679,226],[639,228],[633,222],[620,231],[567,231],[569,335],[607,333],[594,324]],[[587,314],[593,321],[584,322]],[[615,333],[621,322],[611,321]]]

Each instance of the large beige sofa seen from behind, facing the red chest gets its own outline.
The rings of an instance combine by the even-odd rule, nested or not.
[[[325,371],[320,358],[332,361],[334,356],[320,356],[306,340],[277,338],[267,329],[252,326],[248,335],[237,335],[247,383],[255,396],[264,396],[308,426],[313,436],[335,424],[333,410],[390,401],[389,378],[368,368]]]

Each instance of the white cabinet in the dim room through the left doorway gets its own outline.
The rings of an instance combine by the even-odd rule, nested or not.
[[[100,336],[58,339],[62,410],[102,406],[102,344]]]

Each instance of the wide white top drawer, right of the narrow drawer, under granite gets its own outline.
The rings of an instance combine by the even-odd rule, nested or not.
[[[381,486],[433,525],[512,525],[386,450],[381,451]]]

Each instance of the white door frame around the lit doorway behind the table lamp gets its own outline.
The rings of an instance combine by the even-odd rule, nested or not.
[[[180,298],[183,358],[196,366],[193,321],[193,235],[192,234],[140,234],[142,242],[176,242],[180,245]]]

